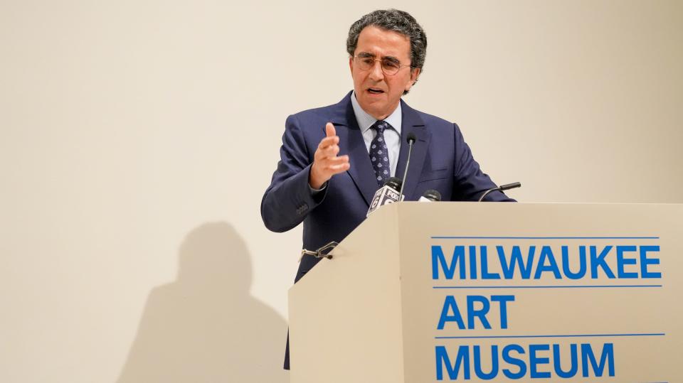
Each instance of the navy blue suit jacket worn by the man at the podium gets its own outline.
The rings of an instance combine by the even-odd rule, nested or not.
[[[401,100],[401,151],[396,176],[406,168],[406,136],[417,137],[403,185],[406,200],[418,200],[425,190],[438,190],[443,200],[477,200],[494,188],[492,180],[472,158],[456,124],[418,112]],[[313,155],[332,122],[339,136],[339,156],[349,155],[351,168],[332,177],[324,192],[312,195],[308,178]],[[292,114],[285,123],[280,162],[261,201],[261,217],[269,230],[285,232],[304,222],[303,247],[315,250],[330,241],[341,242],[364,219],[378,189],[365,141],[359,129],[351,92],[338,104]],[[500,192],[487,201],[512,201]],[[295,282],[319,259],[304,257]],[[285,358],[285,368],[289,360]]]

